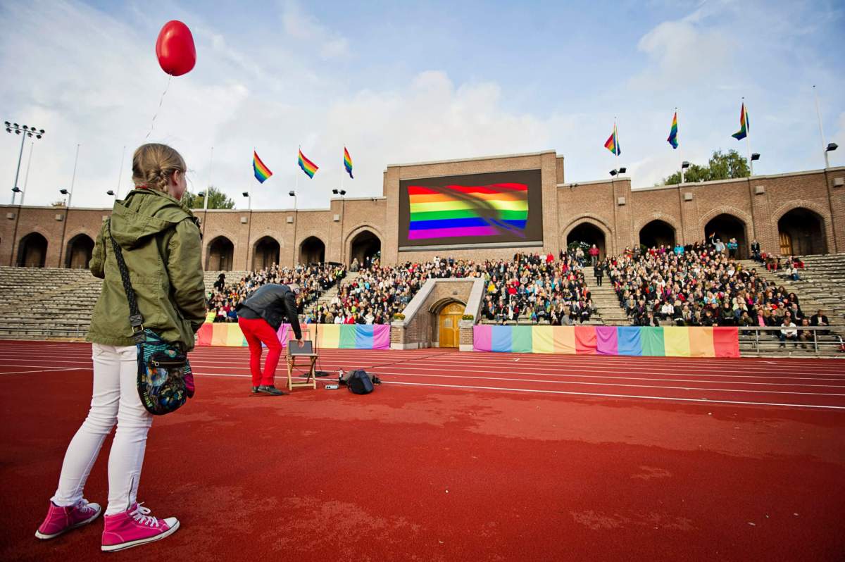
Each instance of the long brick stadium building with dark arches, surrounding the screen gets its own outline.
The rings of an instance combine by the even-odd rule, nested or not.
[[[845,167],[706,183],[631,189],[629,177],[565,183],[553,151],[387,166],[381,197],[331,199],[321,210],[202,210],[207,270],[248,270],[334,261],[381,252],[392,264],[449,255],[510,257],[514,248],[476,244],[400,245],[400,183],[493,172],[539,171],[542,240],[524,251],[557,253],[579,240],[602,254],[637,243],[691,243],[711,232],[736,237],[747,254],[756,239],[780,254],[845,252]],[[84,267],[108,209],[2,205],[0,265]],[[405,211],[407,212],[407,211]]]

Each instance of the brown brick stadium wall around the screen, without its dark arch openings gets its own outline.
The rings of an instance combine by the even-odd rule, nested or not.
[[[300,249],[308,237],[324,244],[327,261],[348,263],[355,237],[368,232],[379,239],[385,265],[428,260],[435,255],[510,259],[514,248],[400,252],[399,183],[414,177],[529,169],[541,171],[543,242],[542,246],[521,251],[557,254],[570,232],[585,223],[602,232],[608,254],[619,254],[640,243],[641,229],[654,220],[668,224],[676,241],[693,243],[706,238],[708,221],[729,215],[742,222],[746,243],[757,239],[765,251],[777,254],[778,221],[791,210],[805,209],[804,216],[819,224],[813,235],[814,247],[831,254],[845,252],[845,167],[632,189],[629,177],[564,183],[563,166],[563,156],[553,151],[388,166],[383,197],[331,199],[329,208],[320,210],[198,210],[196,214],[203,222],[204,263],[217,237],[226,237],[232,243],[232,270],[252,269],[255,247],[262,237],[279,244],[281,265],[299,262]],[[285,196],[283,200],[287,199]],[[103,216],[110,211],[0,205],[0,265],[15,265],[20,241],[37,232],[47,241],[45,265],[64,266],[68,243],[77,235],[94,239]],[[785,221],[791,221],[790,217]],[[803,226],[792,224],[789,232],[799,236],[796,228]],[[804,232],[801,236],[810,235]]]

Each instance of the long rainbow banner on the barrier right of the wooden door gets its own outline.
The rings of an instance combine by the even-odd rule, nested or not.
[[[739,330],[728,327],[476,325],[477,352],[739,357]]]

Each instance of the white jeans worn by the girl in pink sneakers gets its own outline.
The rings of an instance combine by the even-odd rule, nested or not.
[[[92,344],[94,392],[85,422],[70,440],[52,502],[74,505],[82,499],[85,481],[103,441],[117,422],[108,456],[108,506],[111,516],[128,510],[138,494],[147,432],[153,417],[138,396],[138,350]]]

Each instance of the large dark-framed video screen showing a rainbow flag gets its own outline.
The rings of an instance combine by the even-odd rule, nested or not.
[[[542,244],[539,170],[405,179],[399,249]]]

